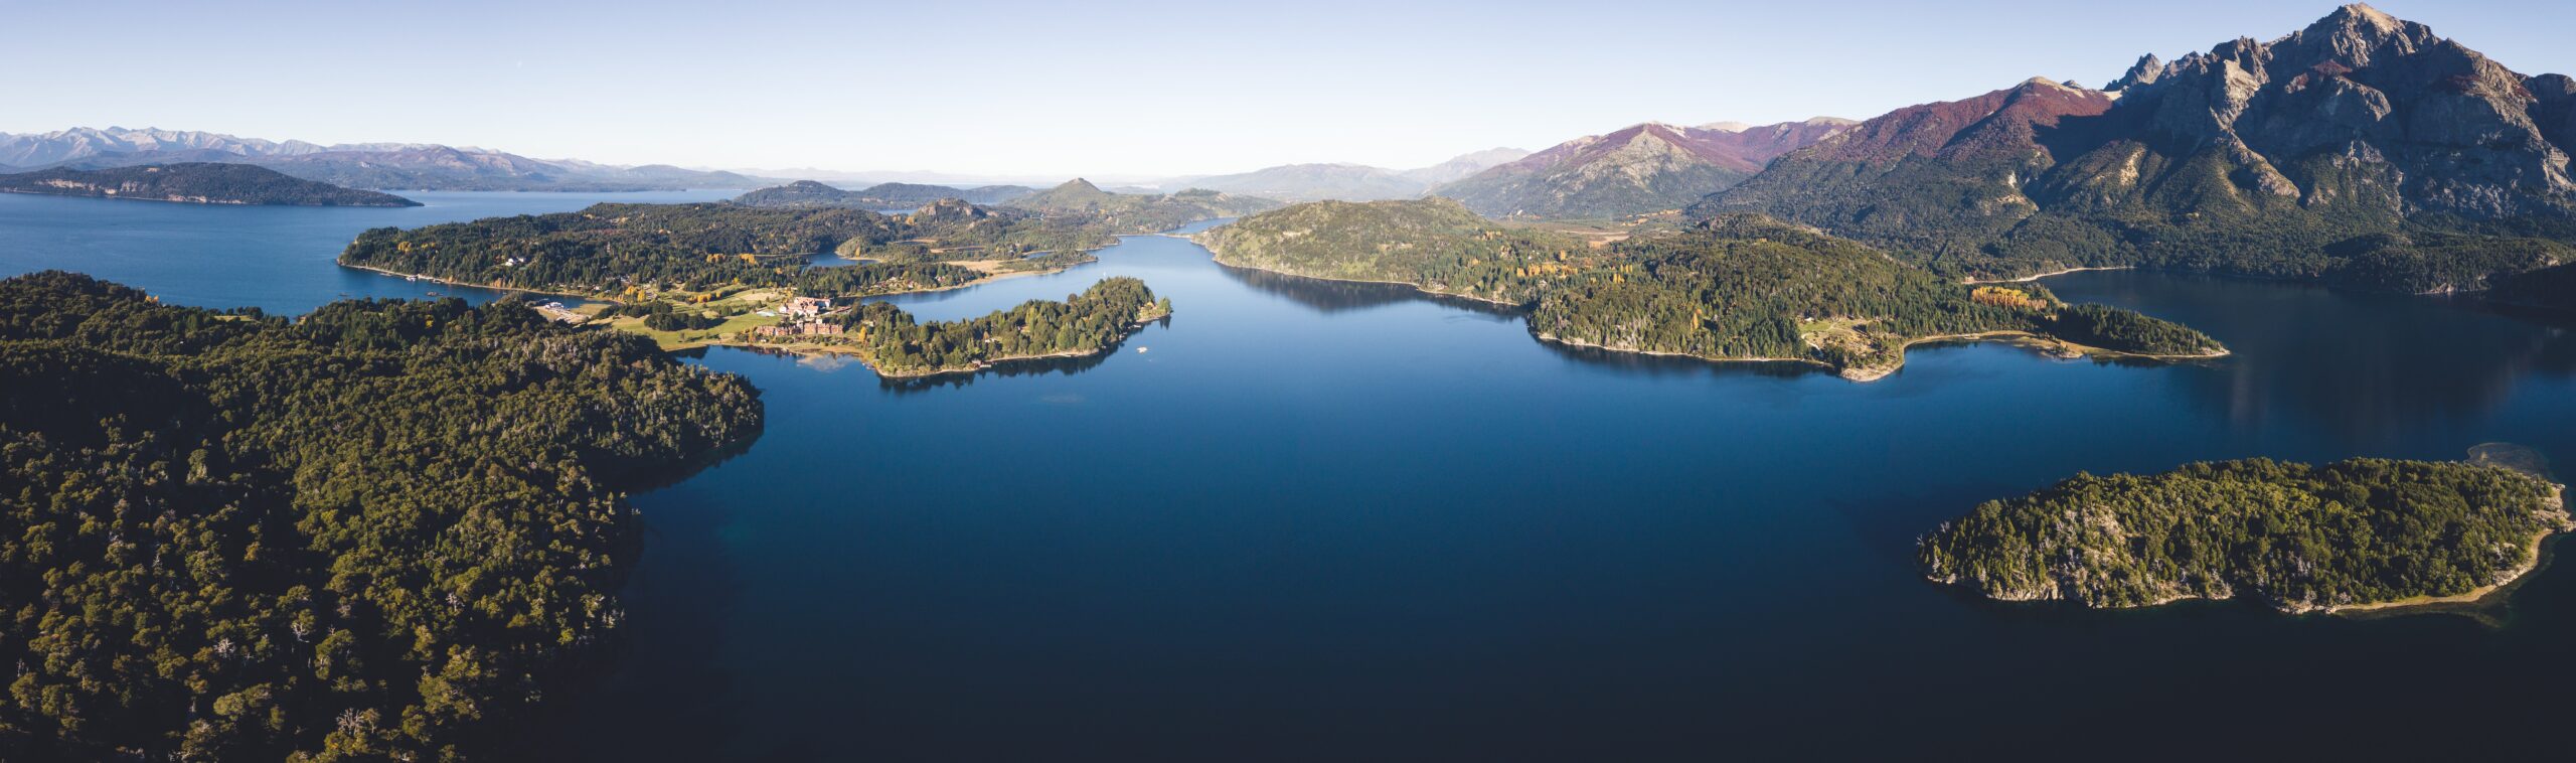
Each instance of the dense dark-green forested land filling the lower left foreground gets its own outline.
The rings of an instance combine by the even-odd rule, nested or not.
[[[0,758],[507,750],[618,626],[623,492],[760,423],[742,379],[518,302],[0,281]]]

